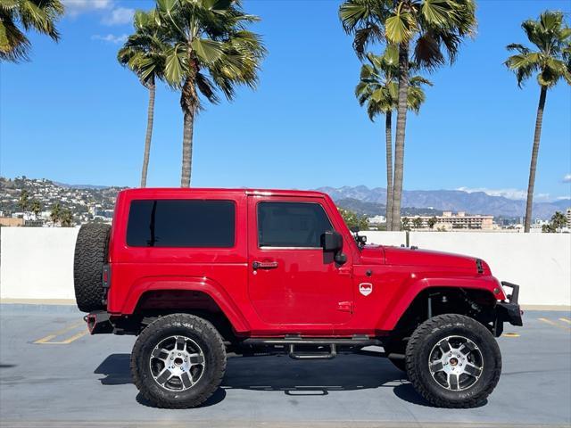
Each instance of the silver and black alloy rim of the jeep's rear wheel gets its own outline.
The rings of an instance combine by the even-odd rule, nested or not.
[[[204,354],[186,336],[170,336],[154,347],[149,365],[156,383],[170,391],[192,388],[204,373]]]

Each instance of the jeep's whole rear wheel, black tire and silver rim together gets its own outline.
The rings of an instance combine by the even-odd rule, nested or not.
[[[218,331],[193,315],[160,317],[139,334],[131,353],[135,384],[157,407],[199,406],[219,387],[225,370]]]

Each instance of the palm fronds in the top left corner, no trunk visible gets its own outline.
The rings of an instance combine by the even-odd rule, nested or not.
[[[60,33],[55,29],[55,23],[62,14],[61,0],[0,0],[0,60],[29,60],[31,45],[24,33],[29,29],[57,42]]]

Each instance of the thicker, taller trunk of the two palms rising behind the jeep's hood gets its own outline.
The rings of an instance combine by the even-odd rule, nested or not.
[[[392,230],[401,230],[402,176],[404,173],[404,131],[407,125],[409,92],[409,44],[399,45],[399,101],[394,141],[394,183]]]

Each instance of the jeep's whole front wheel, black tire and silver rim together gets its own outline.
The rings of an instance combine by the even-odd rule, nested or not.
[[[501,353],[484,325],[446,314],[412,333],[406,366],[415,390],[434,406],[476,407],[500,380]]]

